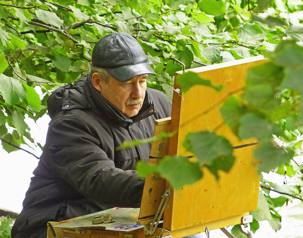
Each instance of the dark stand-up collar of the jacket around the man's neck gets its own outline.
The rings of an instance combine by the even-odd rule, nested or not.
[[[148,116],[151,116],[155,113],[155,106],[151,100],[151,97],[146,92],[145,99],[142,105],[142,108],[136,116],[127,117],[117,108],[115,108],[110,102],[108,102],[101,93],[95,89],[92,85],[92,75],[91,72],[87,75],[85,83],[85,96],[88,99],[88,102],[92,106],[92,111],[102,119],[108,121],[114,121],[118,125],[126,127],[132,123],[138,122]]]

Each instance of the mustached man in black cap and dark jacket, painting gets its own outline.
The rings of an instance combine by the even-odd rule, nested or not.
[[[164,93],[146,88],[155,74],[141,45],[112,33],[92,52],[91,70],[48,99],[46,143],[12,238],[46,237],[47,222],[110,207],[139,207],[150,144],[115,150],[123,141],[153,136],[154,120],[171,116]]]

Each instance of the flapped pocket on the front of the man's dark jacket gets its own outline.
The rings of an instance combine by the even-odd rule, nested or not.
[[[115,167],[123,170],[135,169],[140,155],[136,147],[130,147],[115,151]]]

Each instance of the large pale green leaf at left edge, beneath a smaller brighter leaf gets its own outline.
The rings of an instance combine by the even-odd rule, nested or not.
[[[11,105],[22,102],[26,98],[26,91],[22,84],[4,74],[0,74],[0,92],[5,102]]]

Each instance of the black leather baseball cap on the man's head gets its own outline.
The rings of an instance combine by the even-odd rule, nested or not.
[[[125,33],[111,33],[101,38],[93,49],[92,65],[106,69],[118,81],[156,74],[139,42]]]

